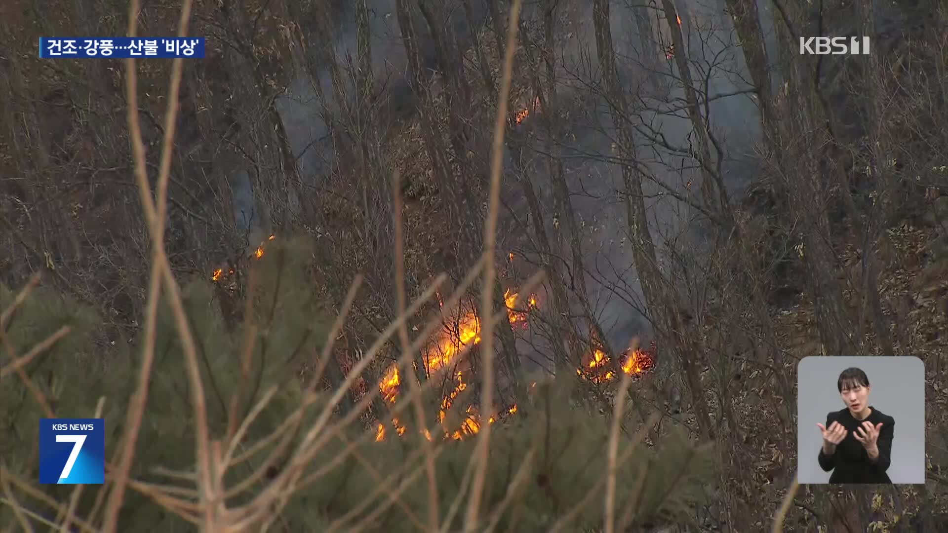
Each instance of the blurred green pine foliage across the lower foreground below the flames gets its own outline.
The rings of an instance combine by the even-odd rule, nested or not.
[[[368,525],[374,531],[415,531],[427,516],[427,479],[422,450],[422,432],[411,428],[400,438],[375,442],[374,428],[359,418],[328,438],[304,464],[293,463],[298,450],[318,420],[331,392],[303,388],[300,369],[318,358],[327,338],[331,313],[316,298],[306,268],[313,250],[301,241],[268,247],[253,262],[255,286],[237,287],[251,301],[249,316],[228,327],[215,301],[213,282],[196,280],[187,285],[184,304],[201,359],[207,396],[210,433],[228,434],[231,398],[238,397],[238,420],[243,420],[267,391],[275,392],[263,411],[247,427],[236,454],[259,445],[259,450],[233,464],[225,476],[228,487],[237,487],[254,476],[244,490],[228,498],[228,508],[246,505],[272,488],[283,469],[299,471],[301,478],[319,473],[312,483],[297,487],[280,512],[287,531],[317,531],[334,524],[341,529]],[[244,296],[246,296],[244,294]],[[8,308],[15,293],[0,289],[0,308]],[[10,351],[0,358],[9,368],[23,355],[63,325],[71,328],[64,339],[30,361],[27,377],[41,391],[49,407],[60,417],[92,417],[104,398],[101,416],[106,424],[106,460],[115,452],[124,432],[126,409],[136,392],[141,339],[117,340],[107,352],[97,345],[99,317],[87,307],[40,288],[20,305],[8,324],[6,341]],[[242,358],[245,340],[252,338],[249,365]],[[169,305],[162,303],[156,331],[155,366],[151,392],[138,437],[131,475],[135,480],[126,491],[119,516],[119,531],[191,530],[179,514],[196,514],[173,508],[156,494],[193,500],[194,427],[189,383],[184,371],[179,336]],[[531,395],[522,398],[516,415],[497,424],[492,435],[483,526],[497,520],[501,530],[546,531],[558,520],[577,512],[568,530],[597,529],[603,523],[606,494],[610,420],[577,406],[575,377],[540,381]],[[428,413],[437,413],[436,395],[425,395]],[[303,401],[310,405],[301,408]],[[628,411],[628,410],[627,410]],[[9,487],[0,505],[0,524],[15,523],[17,505],[29,511],[34,526],[40,521],[62,523],[63,516],[43,498],[44,494],[64,508],[73,486],[40,486],[36,457],[38,420],[44,407],[28,391],[23,379],[9,372],[0,384],[0,464],[8,472],[3,487]],[[341,414],[334,414],[333,427]],[[406,413],[404,418],[410,416]],[[431,417],[437,428],[437,417]],[[436,432],[435,432],[436,433]],[[634,431],[630,431],[634,433]],[[327,434],[325,431],[318,436]],[[267,440],[269,437],[276,436]],[[619,457],[628,453],[633,435],[621,434]],[[461,503],[448,530],[460,530],[468,483],[468,464],[474,454],[472,440],[435,438],[435,466],[442,521],[455,501]],[[263,443],[263,444],[260,444]],[[276,460],[264,464],[277,447],[285,445]],[[227,448],[227,441],[224,442]],[[713,453],[695,446],[682,433],[665,435],[653,447],[639,445],[616,473],[616,520],[629,527],[642,524],[686,521],[705,497],[713,479]],[[289,465],[289,466],[288,466]],[[173,474],[173,472],[178,472]],[[75,515],[93,527],[102,518],[101,490],[84,487]],[[24,489],[26,484],[29,489]],[[392,503],[392,490],[397,502]],[[15,504],[14,504],[15,502]],[[276,505],[276,504],[273,504]],[[502,505],[502,508],[501,508]],[[496,517],[495,512],[501,509]],[[634,511],[634,512],[631,512]],[[27,516],[27,515],[23,515]],[[363,523],[362,521],[368,521]],[[75,524],[75,521],[73,521]],[[258,530],[258,525],[249,527]]]

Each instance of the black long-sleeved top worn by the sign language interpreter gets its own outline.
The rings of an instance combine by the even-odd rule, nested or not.
[[[869,462],[868,452],[852,434],[866,420],[856,420],[848,409],[827,414],[828,429],[833,422],[839,422],[846,428],[846,438],[836,445],[836,451],[832,455],[824,454],[822,445],[820,446],[820,467],[828,472],[832,470],[830,483],[892,483],[885,470],[891,462],[895,418],[882,414],[872,406],[869,406],[869,409],[872,412],[866,420],[873,425],[880,422],[883,424],[879,430],[879,438],[876,439],[879,457],[875,463]]]

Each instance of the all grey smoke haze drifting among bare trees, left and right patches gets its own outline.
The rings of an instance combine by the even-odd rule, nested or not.
[[[374,78],[383,80],[389,101],[384,110],[391,120],[410,119],[415,102],[406,81],[406,56],[402,46],[393,0],[370,0],[370,26],[372,29],[372,54]],[[451,28],[458,35],[464,50],[471,41],[470,31],[480,30],[485,23],[483,2],[475,0],[473,20],[466,20],[464,9],[458,1],[447,1],[445,12],[450,13]],[[708,103],[711,131],[723,148],[722,174],[731,193],[738,193],[755,174],[755,145],[760,137],[757,104],[747,83],[747,67],[736,43],[733,22],[726,14],[724,0],[684,1],[677,0],[676,8],[682,19],[684,40],[691,60],[692,78],[696,84],[706,81],[707,92],[712,101]],[[677,68],[665,57],[665,46],[671,42],[661,2],[653,0],[611,2],[611,30],[613,46],[618,54],[621,82],[632,90],[641,84],[645,98],[639,101],[639,119],[645,131],[652,137],[664,136],[673,147],[688,148],[692,145],[692,126],[684,109],[684,91],[677,81]],[[563,157],[564,173],[572,193],[572,205],[582,231],[582,247],[589,275],[587,289],[606,333],[606,341],[613,350],[624,349],[635,336],[650,337],[650,327],[642,315],[645,309],[637,276],[632,268],[625,206],[620,197],[622,191],[621,170],[611,164],[613,152],[613,128],[609,107],[599,96],[599,69],[593,29],[592,2],[586,0],[561,0],[557,7],[560,13],[556,28],[565,42],[556,50],[557,99],[568,102],[570,112],[566,121],[565,135],[556,139],[556,153]],[[638,11],[636,12],[636,9]],[[775,57],[775,40],[769,2],[760,3],[762,28],[768,35],[767,46],[770,58]],[[636,24],[647,19],[650,35],[641,35]],[[526,3],[523,18],[528,24],[540,25],[542,13],[534,3]],[[356,57],[355,12],[349,3],[337,3],[333,14],[333,46],[337,58]],[[416,31],[421,39],[422,61],[429,69],[437,68],[432,41],[425,32],[424,21],[418,20]],[[303,28],[304,32],[307,28]],[[314,29],[308,30],[316,38]],[[649,46],[645,38],[656,42]],[[312,44],[315,46],[315,44]],[[315,60],[315,58],[314,58]],[[354,59],[352,61],[355,61]],[[297,156],[302,178],[310,184],[318,184],[332,167],[332,139],[323,114],[328,112],[338,117],[341,110],[333,101],[328,70],[318,67],[316,79],[301,73],[290,86],[286,95],[277,101],[278,111],[291,146]],[[778,82],[775,80],[775,83]],[[317,96],[317,85],[325,101]],[[701,98],[701,93],[699,98]],[[512,101],[514,106],[523,106],[526,101]],[[326,105],[324,108],[323,106]],[[541,113],[541,111],[540,111]],[[526,169],[534,176],[541,205],[553,205],[549,182],[545,179],[547,168],[542,162],[545,145],[544,134],[538,125],[531,124],[532,117],[524,120],[520,128],[528,128],[521,137],[523,150],[517,156],[534,161]],[[518,132],[513,132],[518,135]],[[647,175],[654,182],[646,184],[647,207],[652,231],[658,246],[660,261],[668,267],[665,242],[678,248],[701,249],[700,231],[692,230],[690,221],[695,212],[682,203],[663,194],[664,185],[672,191],[695,196],[698,188],[688,188],[688,183],[698,183],[700,176],[695,170],[694,157],[687,153],[673,153],[655,146],[653,142],[640,139],[638,156],[647,168]],[[694,143],[697,146],[697,142]],[[479,155],[486,159],[489,155]],[[509,175],[514,154],[509,150],[505,161],[508,175],[505,182],[515,177]],[[520,193],[508,187],[508,206],[526,212]],[[246,206],[252,192],[248,187],[234,188],[235,194],[244,197],[235,200],[235,205]],[[697,197],[695,198],[697,200]],[[511,223],[510,216],[504,224]],[[554,215],[547,217],[549,225],[556,224]],[[565,239],[564,239],[565,242]],[[560,250],[569,257],[566,249]]]

